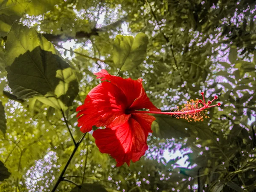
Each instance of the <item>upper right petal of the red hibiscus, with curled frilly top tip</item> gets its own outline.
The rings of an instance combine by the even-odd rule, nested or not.
[[[161,111],[149,100],[142,86],[142,79],[123,79],[122,77],[111,76],[106,70],[101,70],[94,74],[97,78],[102,78],[102,81],[111,81],[111,83],[115,84],[120,90],[122,90],[127,98],[128,106],[130,106],[129,111],[135,111],[143,108],[149,109],[150,111]]]

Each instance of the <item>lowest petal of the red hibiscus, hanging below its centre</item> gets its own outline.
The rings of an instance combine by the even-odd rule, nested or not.
[[[122,166],[124,163],[129,166],[131,160],[140,160],[148,149],[148,132],[133,118],[123,125],[97,129],[93,132],[93,137],[100,152],[110,154],[116,159],[116,166]]]

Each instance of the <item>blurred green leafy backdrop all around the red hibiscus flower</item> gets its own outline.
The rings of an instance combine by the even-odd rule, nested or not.
[[[0,190],[52,190],[74,150],[64,116],[79,140],[76,107],[107,69],[143,78],[164,111],[201,91],[223,105],[204,122],[156,116],[130,167],[87,134],[59,192],[254,192],[255,47],[254,0],[0,0]]]

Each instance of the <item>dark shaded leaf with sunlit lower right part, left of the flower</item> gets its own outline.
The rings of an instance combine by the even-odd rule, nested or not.
[[[76,76],[58,55],[35,48],[6,67],[9,87],[20,99],[35,97],[56,109],[72,105],[78,94]]]

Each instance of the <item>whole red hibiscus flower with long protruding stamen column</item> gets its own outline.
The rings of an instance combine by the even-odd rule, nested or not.
[[[102,78],[103,82],[90,90],[84,105],[76,109],[79,111],[78,126],[83,133],[91,131],[93,125],[105,127],[94,131],[93,137],[100,152],[116,159],[116,166],[124,163],[129,166],[131,160],[138,161],[148,149],[147,137],[152,132],[151,124],[155,117],[145,113],[173,115],[189,122],[192,119],[203,121],[203,117],[208,116],[201,111],[221,105],[210,105],[217,96],[206,103],[202,92],[203,100],[190,100],[174,112],[161,112],[150,102],[142,86],[142,79],[123,79],[111,76],[106,70],[95,75]],[[141,109],[149,111],[137,111]]]

